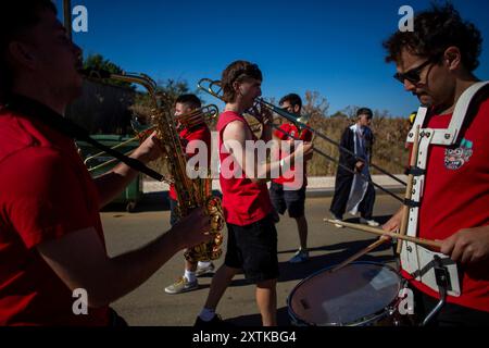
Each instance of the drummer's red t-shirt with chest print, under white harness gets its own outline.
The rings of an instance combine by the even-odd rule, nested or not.
[[[452,115],[436,115],[429,128],[447,128]],[[423,201],[419,237],[443,240],[462,228],[489,225],[489,100],[481,103],[472,124],[455,148],[430,146]],[[462,296],[448,301],[489,312],[489,262],[463,271]],[[403,271],[403,275],[411,276]],[[412,279],[423,293],[438,293]]]

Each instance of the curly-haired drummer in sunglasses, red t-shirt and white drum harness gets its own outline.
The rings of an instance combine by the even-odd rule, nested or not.
[[[479,64],[481,36],[449,4],[419,13],[414,27],[415,33],[396,33],[384,44],[387,61],[396,63],[396,78],[405,90],[429,107],[422,127],[448,128],[461,95],[478,80],[473,72]],[[489,323],[488,120],[486,92],[465,117],[457,144],[428,148],[417,236],[441,240],[441,252],[457,262],[461,273],[461,296],[448,296],[435,318],[437,325]],[[384,228],[399,229],[401,215],[400,210]],[[439,294],[404,265],[402,274],[418,299],[415,314],[426,316]]]

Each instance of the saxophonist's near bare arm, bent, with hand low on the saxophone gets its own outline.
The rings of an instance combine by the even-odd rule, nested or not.
[[[89,306],[103,307],[140,286],[178,250],[209,240],[204,214],[196,210],[155,240],[114,258],[93,227],[41,243],[37,250],[72,291],[86,289]]]

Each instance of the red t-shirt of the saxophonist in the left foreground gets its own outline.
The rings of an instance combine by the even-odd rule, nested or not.
[[[36,249],[88,227],[104,245],[98,191],[73,140],[0,110],[0,325],[108,325],[108,307],[73,313],[72,291]]]

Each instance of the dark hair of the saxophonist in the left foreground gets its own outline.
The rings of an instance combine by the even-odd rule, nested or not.
[[[13,40],[25,29],[39,22],[41,11],[49,10],[57,14],[51,0],[15,0],[0,2],[0,102],[11,94],[13,73],[8,64],[7,50]]]

